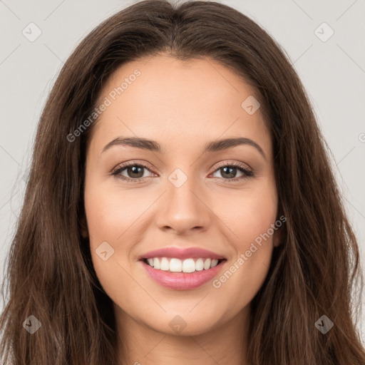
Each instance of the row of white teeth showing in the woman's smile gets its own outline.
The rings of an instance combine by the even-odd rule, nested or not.
[[[217,259],[177,259],[177,258],[168,258],[168,257],[151,257],[147,259],[150,267],[154,267],[155,269],[160,269],[163,271],[170,272],[195,272],[202,271],[203,269],[207,270],[212,267],[217,266]]]

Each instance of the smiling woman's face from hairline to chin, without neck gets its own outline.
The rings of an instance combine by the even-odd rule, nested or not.
[[[207,58],[133,61],[104,86],[83,234],[118,318],[200,334],[247,313],[277,244],[272,144],[257,100]],[[230,138],[242,140],[217,142]],[[180,251],[149,255],[165,248]]]

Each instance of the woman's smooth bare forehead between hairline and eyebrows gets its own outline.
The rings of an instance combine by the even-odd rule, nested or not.
[[[261,110],[250,115],[242,106],[250,98],[259,100],[255,88],[210,58],[141,58],[120,66],[103,86],[97,105],[109,105],[94,133],[103,142],[138,135],[176,145],[240,135],[269,144]]]

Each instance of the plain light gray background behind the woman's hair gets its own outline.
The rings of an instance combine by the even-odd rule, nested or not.
[[[51,86],[79,41],[108,16],[134,2],[0,0],[1,281],[24,196],[36,125]],[[257,21],[292,60],[331,148],[364,262],[365,1],[220,2]],[[31,22],[42,32],[34,42],[22,34]],[[327,41],[314,32],[323,22],[334,31]],[[323,38],[329,29],[319,27],[318,33]],[[365,310],[362,312],[358,325],[364,341]]]

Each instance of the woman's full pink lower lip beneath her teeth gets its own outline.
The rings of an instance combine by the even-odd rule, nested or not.
[[[143,261],[140,261],[145,268],[145,271],[150,275],[150,277],[158,282],[158,284],[163,285],[175,290],[189,290],[200,287],[202,284],[209,282],[213,277],[215,277],[220,269],[222,269],[225,260],[217,264],[217,266],[212,267],[212,269],[195,271],[195,272],[168,272],[164,270],[154,269],[150,267]]]

